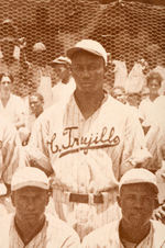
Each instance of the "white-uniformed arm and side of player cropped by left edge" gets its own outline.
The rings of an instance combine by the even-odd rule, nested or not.
[[[0,215],[11,212],[11,178],[21,160],[20,139],[15,127],[0,115]],[[2,211],[3,210],[3,211]]]

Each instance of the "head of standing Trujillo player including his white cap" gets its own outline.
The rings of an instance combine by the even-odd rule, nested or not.
[[[100,43],[82,40],[67,50],[67,56],[72,59],[76,90],[90,93],[102,90],[107,53]]]

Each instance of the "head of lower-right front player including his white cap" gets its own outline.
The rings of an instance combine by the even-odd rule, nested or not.
[[[148,225],[157,207],[156,177],[145,169],[131,169],[119,183],[118,203],[122,211],[122,224],[132,229]]]

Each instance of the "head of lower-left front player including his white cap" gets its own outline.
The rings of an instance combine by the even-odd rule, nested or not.
[[[33,226],[44,219],[48,203],[48,178],[40,169],[19,168],[11,181],[12,203],[19,222]]]

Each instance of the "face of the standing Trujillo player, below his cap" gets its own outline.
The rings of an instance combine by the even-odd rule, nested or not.
[[[103,58],[87,52],[78,52],[72,60],[72,72],[77,91],[92,93],[102,90],[105,78]]]

